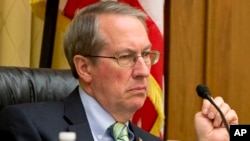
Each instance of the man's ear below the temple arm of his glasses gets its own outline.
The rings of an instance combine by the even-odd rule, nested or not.
[[[73,58],[76,71],[78,73],[79,78],[83,79],[86,83],[91,81],[91,74],[90,74],[90,62],[89,60],[81,55],[75,55]]]

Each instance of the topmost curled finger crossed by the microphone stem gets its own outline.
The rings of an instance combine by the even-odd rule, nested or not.
[[[216,97],[213,99],[215,105],[217,105],[218,107],[221,107],[221,105],[224,103],[224,100],[222,99],[222,97]],[[210,104],[209,109],[208,109],[208,118],[213,120],[215,118],[215,116],[217,115],[218,111],[217,109]]]

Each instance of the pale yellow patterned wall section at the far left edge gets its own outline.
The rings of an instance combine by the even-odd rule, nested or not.
[[[28,1],[0,2],[0,63],[29,65],[31,8]]]

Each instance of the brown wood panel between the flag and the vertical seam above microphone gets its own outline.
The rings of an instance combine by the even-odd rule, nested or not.
[[[204,66],[204,1],[171,1],[167,139],[195,140]]]

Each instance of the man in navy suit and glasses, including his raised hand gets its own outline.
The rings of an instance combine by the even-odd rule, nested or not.
[[[59,132],[74,131],[78,141],[159,141],[130,122],[144,104],[150,68],[160,56],[152,50],[145,19],[143,12],[114,1],[80,9],[64,38],[79,87],[63,101],[6,108],[0,114],[0,139],[56,141]],[[215,102],[228,123],[238,123],[222,98]],[[203,102],[195,123],[198,140],[229,140],[209,102]]]

